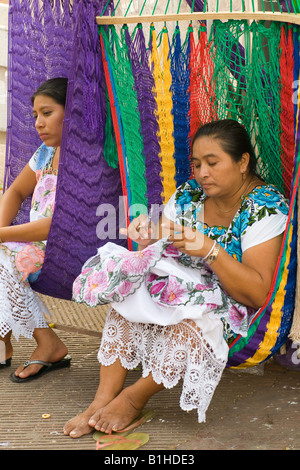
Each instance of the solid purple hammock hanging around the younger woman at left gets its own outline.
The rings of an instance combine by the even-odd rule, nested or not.
[[[32,284],[37,292],[61,299],[71,299],[83,263],[107,241],[96,233],[97,208],[101,203],[118,208],[122,195],[119,169],[109,167],[103,157],[106,97],[95,17],[106,3],[44,0],[41,8],[39,0],[14,0],[9,7],[4,188],[42,143],[34,128],[31,95],[46,79],[69,79],[56,208],[45,263]],[[28,221],[29,210],[27,200],[14,223]]]

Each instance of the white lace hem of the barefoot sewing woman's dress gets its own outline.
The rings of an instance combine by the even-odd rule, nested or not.
[[[144,378],[152,374],[156,383],[168,389],[182,379],[180,407],[184,411],[196,409],[201,423],[205,422],[227,355],[217,358],[191,320],[169,326],[132,323],[112,309],[104,327],[98,360],[109,366],[116,359],[128,370],[141,363]]]

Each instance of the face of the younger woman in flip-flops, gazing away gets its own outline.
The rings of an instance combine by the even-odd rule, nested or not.
[[[53,98],[38,95],[33,103],[35,128],[47,147],[59,147],[61,144],[65,108]]]

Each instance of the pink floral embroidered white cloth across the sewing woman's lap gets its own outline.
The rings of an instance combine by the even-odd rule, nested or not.
[[[225,294],[203,261],[188,259],[167,239],[136,252],[107,243],[83,266],[73,299],[90,307],[110,303],[129,321],[159,325],[210,314],[246,335],[247,307]]]

